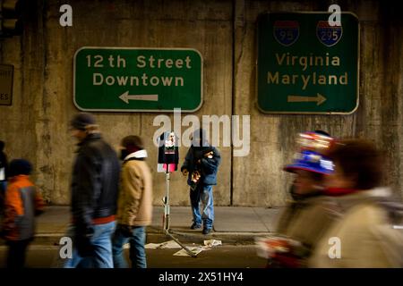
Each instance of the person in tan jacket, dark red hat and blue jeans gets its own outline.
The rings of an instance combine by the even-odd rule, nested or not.
[[[122,140],[121,160],[124,161],[117,208],[117,228],[113,238],[114,266],[127,268],[124,244],[130,243],[133,268],[146,268],[144,249],[146,226],[152,220],[152,177],[146,163],[147,151],[138,136]]]

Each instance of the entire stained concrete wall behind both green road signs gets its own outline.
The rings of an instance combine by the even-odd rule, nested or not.
[[[73,27],[59,25],[59,7],[73,6]],[[68,122],[73,105],[73,55],[81,46],[192,47],[204,59],[204,104],[195,115],[250,114],[251,152],[223,163],[216,205],[281,206],[290,176],[294,138],[303,130],[328,130],[337,137],[373,139],[386,151],[386,182],[401,192],[403,175],[403,24],[397,9],[378,2],[341,1],[361,25],[360,106],[351,115],[267,115],[254,105],[256,18],[267,11],[325,11],[316,1],[30,1],[21,37],[1,43],[1,62],[14,65],[13,105],[0,105],[0,139],[10,157],[35,164],[35,181],[53,204],[69,203],[74,140]],[[391,3],[393,4],[393,2]],[[151,138],[157,114],[95,113],[105,139],[118,147],[128,134],[140,134],[154,172],[154,202],[165,192],[156,172]],[[170,115],[173,118],[172,114]],[[186,149],[181,147],[182,158]],[[171,177],[173,205],[188,205],[184,178]]]

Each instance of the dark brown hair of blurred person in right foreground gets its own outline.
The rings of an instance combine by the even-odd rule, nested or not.
[[[355,181],[355,189],[373,189],[381,184],[383,160],[371,142],[345,139],[330,149],[330,159],[340,171]]]

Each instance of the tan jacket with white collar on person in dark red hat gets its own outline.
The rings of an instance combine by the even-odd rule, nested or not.
[[[124,159],[117,206],[117,223],[147,226],[152,220],[152,178],[148,164],[143,161],[145,150]]]

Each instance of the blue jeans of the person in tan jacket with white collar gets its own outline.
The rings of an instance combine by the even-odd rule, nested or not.
[[[147,268],[147,259],[144,249],[146,233],[144,226],[134,226],[132,235],[125,236],[119,229],[116,230],[112,240],[112,251],[115,268],[128,268],[124,258],[124,244],[130,243],[130,260],[132,268]]]

